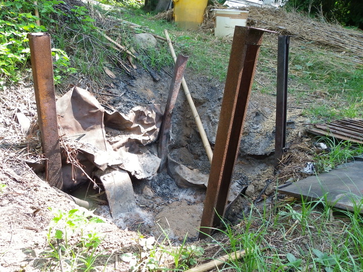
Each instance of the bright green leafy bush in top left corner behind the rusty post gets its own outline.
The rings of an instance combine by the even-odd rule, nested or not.
[[[45,23],[51,20],[50,14],[56,12],[54,5],[58,1],[38,1],[41,6],[41,16]],[[46,32],[43,25],[38,26],[39,20],[32,15],[34,11],[32,2],[12,0],[0,3],[0,83],[5,88],[6,83],[16,83],[21,79],[22,72],[28,67],[27,61],[30,56],[27,33]],[[59,12],[58,12],[59,13]],[[58,83],[62,74],[74,73],[70,68],[69,58],[65,51],[53,49],[55,83]]]

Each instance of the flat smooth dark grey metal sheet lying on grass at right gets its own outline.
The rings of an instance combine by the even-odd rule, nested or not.
[[[363,198],[363,162],[356,161],[338,166],[329,173],[310,176],[277,191],[297,198],[326,199],[336,208],[354,211]],[[360,213],[363,213],[361,209]]]

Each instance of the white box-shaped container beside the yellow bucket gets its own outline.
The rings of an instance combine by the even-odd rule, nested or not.
[[[214,10],[214,36],[232,38],[235,26],[246,26],[248,11]]]

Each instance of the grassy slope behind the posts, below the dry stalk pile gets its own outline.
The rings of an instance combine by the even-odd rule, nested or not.
[[[188,66],[196,73],[225,80],[231,41],[215,38],[210,32],[190,32],[171,23],[152,20],[148,14],[131,10],[129,20],[149,26],[163,36],[167,28],[175,50],[190,56]],[[208,44],[208,46],[206,46]],[[289,58],[289,93],[293,100],[311,101],[305,113],[312,122],[343,117],[361,118],[363,114],[363,67],[339,52],[291,38]],[[273,94],[276,89],[277,36],[266,35],[261,47],[254,90]],[[258,82],[264,84],[258,84]],[[316,101],[317,103],[314,103]]]

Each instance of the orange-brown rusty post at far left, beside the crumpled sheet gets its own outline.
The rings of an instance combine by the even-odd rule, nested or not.
[[[62,189],[62,162],[55,110],[50,35],[48,33],[29,33],[28,39],[40,136],[43,153],[47,158],[46,180],[51,186]]]

